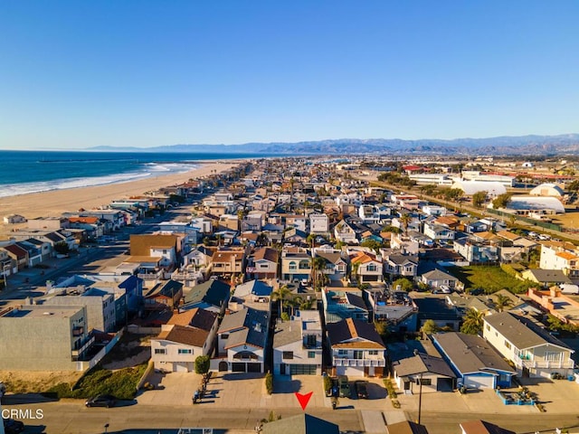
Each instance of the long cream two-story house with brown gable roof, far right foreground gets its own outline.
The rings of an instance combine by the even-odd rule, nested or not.
[[[552,373],[573,374],[574,350],[527,318],[501,312],[483,320],[482,336],[515,364],[519,375],[549,378]]]

